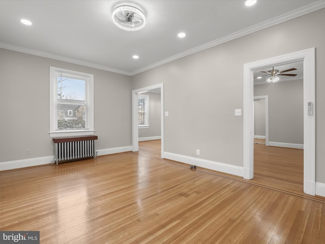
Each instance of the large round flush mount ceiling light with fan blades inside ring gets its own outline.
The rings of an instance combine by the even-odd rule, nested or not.
[[[132,6],[122,5],[114,9],[113,22],[126,31],[138,31],[146,23],[144,13]]]

